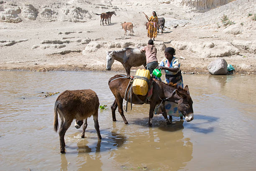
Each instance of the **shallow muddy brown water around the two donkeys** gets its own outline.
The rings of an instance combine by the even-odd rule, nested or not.
[[[256,170],[256,77],[183,75],[194,101],[194,120],[174,117],[166,125],[155,115],[148,127],[148,105],[134,105],[112,121],[114,97],[108,79],[116,73],[0,71],[0,170]],[[66,154],[53,130],[54,101],[46,92],[94,90],[100,104],[102,141],[93,119],[87,138],[68,129]],[[44,92],[44,93],[41,93]]]

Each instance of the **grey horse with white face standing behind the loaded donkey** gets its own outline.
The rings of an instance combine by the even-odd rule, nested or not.
[[[114,61],[117,60],[122,63],[127,75],[131,73],[131,67],[146,66],[145,52],[141,53],[139,48],[124,48],[118,51],[108,51],[107,56],[107,70],[111,70]]]

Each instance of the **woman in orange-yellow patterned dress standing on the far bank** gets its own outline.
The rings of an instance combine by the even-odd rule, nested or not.
[[[156,15],[156,11],[152,12],[153,16],[151,16],[150,18],[148,18],[148,16],[146,16],[146,18],[148,19],[149,25],[148,25],[148,37],[150,39],[153,38],[153,40],[155,40],[156,35],[157,35],[157,27],[159,27],[158,25],[158,18]]]

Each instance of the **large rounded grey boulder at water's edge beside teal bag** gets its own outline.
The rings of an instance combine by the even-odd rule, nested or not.
[[[212,75],[224,75],[227,74],[228,63],[225,59],[219,58],[213,60],[207,67],[208,71]]]

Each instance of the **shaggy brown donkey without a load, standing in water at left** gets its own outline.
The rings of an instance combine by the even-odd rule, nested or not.
[[[98,139],[100,136],[100,126],[98,123],[98,108],[99,98],[97,94],[90,90],[74,90],[64,91],[56,99],[54,106],[54,131],[58,130],[58,113],[61,119],[61,126],[59,128],[60,152],[65,153],[64,136],[71,125],[72,121],[76,119],[76,128],[79,128],[84,120],[82,138],[87,127],[87,118],[93,116],[94,126],[97,131]]]

